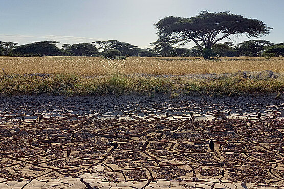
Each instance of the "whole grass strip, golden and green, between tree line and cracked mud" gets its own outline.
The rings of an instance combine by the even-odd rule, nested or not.
[[[1,70],[0,94],[3,95],[169,93],[176,96],[199,93],[235,96],[272,92],[280,97],[284,92],[284,58],[0,57],[2,68],[5,73]],[[264,70],[272,72],[259,72]],[[157,77],[131,75],[136,73],[156,74]],[[216,77],[212,73],[221,75]],[[213,77],[194,75],[198,77],[193,79],[193,75],[184,77],[184,74]]]

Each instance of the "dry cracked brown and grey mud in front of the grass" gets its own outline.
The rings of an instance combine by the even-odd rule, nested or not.
[[[284,100],[0,97],[0,188],[283,188]]]

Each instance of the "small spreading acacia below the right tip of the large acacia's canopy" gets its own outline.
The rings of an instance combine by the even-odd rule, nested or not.
[[[257,57],[266,47],[272,45],[273,43],[266,40],[249,40],[239,43],[238,48],[249,52],[253,57]]]

